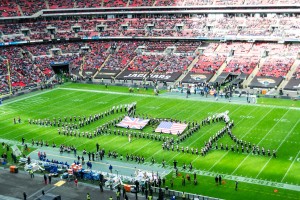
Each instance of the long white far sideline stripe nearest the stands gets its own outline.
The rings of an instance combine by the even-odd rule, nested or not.
[[[58,90],[74,90],[74,91],[82,91],[82,92],[94,92],[94,93],[108,93],[108,94],[119,94],[119,95],[129,95],[129,96],[141,96],[141,97],[155,97],[155,98],[164,98],[164,99],[184,99],[185,101],[201,101],[201,102],[214,102],[218,104],[238,104],[238,105],[244,105],[244,106],[257,106],[257,107],[267,107],[267,108],[281,108],[281,109],[290,109],[290,110],[300,110],[299,107],[289,107],[289,106],[275,106],[275,105],[263,105],[263,104],[247,104],[247,102],[220,102],[215,101],[215,99],[192,99],[192,98],[186,98],[186,96],[164,96],[164,94],[154,96],[149,94],[135,94],[135,93],[125,93],[125,92],[114,92],[114,91],[99,91],[99,90],[89,90],[89,89],[77,89],[77,88],[57,88]]]

